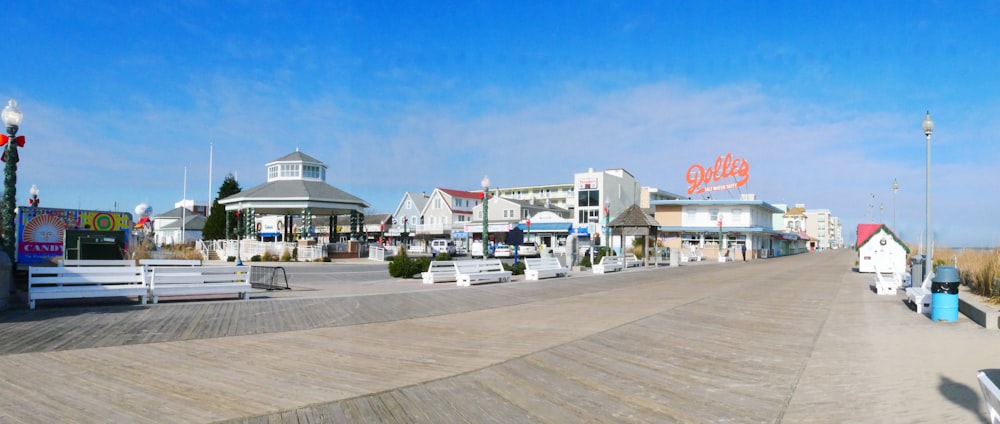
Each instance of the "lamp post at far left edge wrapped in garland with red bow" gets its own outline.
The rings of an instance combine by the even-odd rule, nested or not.
[[[21,125],[21,109],[18,109],[14,99],[7,101],[3,108],[2,118],[8,135],[0,135],[0,145],[4,146],[3,161],[3,250],[14,263],[17,248],[14,231],[14,212],[17,208],[17,147],[24,146],[24,136],[17,136],[17,128]]]

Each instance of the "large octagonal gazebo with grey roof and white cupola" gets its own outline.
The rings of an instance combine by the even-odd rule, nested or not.
[[[219,199],[226,212],[236,211],[243,220],[242,237],[256,239],[257,217],[279,216],[275,230],[282,241],[317,241],[314,220],[329,220],[331,239],[336,233],[337,215],[349,215],[351,234],[364,233],[364,211],[368,202],[326,183],[327,166],[298,149],[268,162],[267,182]],[[228,213],[227,213],[228,216]],[[297,223],[296,223],[297,222]],[[228,226],[227,226],[228,228]],[[297,228],[297,230],[295,230]]]

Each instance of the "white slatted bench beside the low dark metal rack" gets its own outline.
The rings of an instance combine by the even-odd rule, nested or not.
[[[160,296],[235,294],[250,299],[250,267],[232,266],[154,266],[149,273],[149,296],[153,303]]]

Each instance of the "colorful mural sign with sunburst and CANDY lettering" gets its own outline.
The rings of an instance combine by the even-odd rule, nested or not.
[[[18,265],[47,264],[63,257],[66,230],[128,231],[132,215],[127,212],[86,211],[55,208],[18,208]],[[126,248],[128,239],[125,237]]]

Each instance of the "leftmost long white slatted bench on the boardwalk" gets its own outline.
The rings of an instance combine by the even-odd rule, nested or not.
[[[28,267],[28,307],[39,299],[138,297],[146,304],[149,287],[140,266]]]

